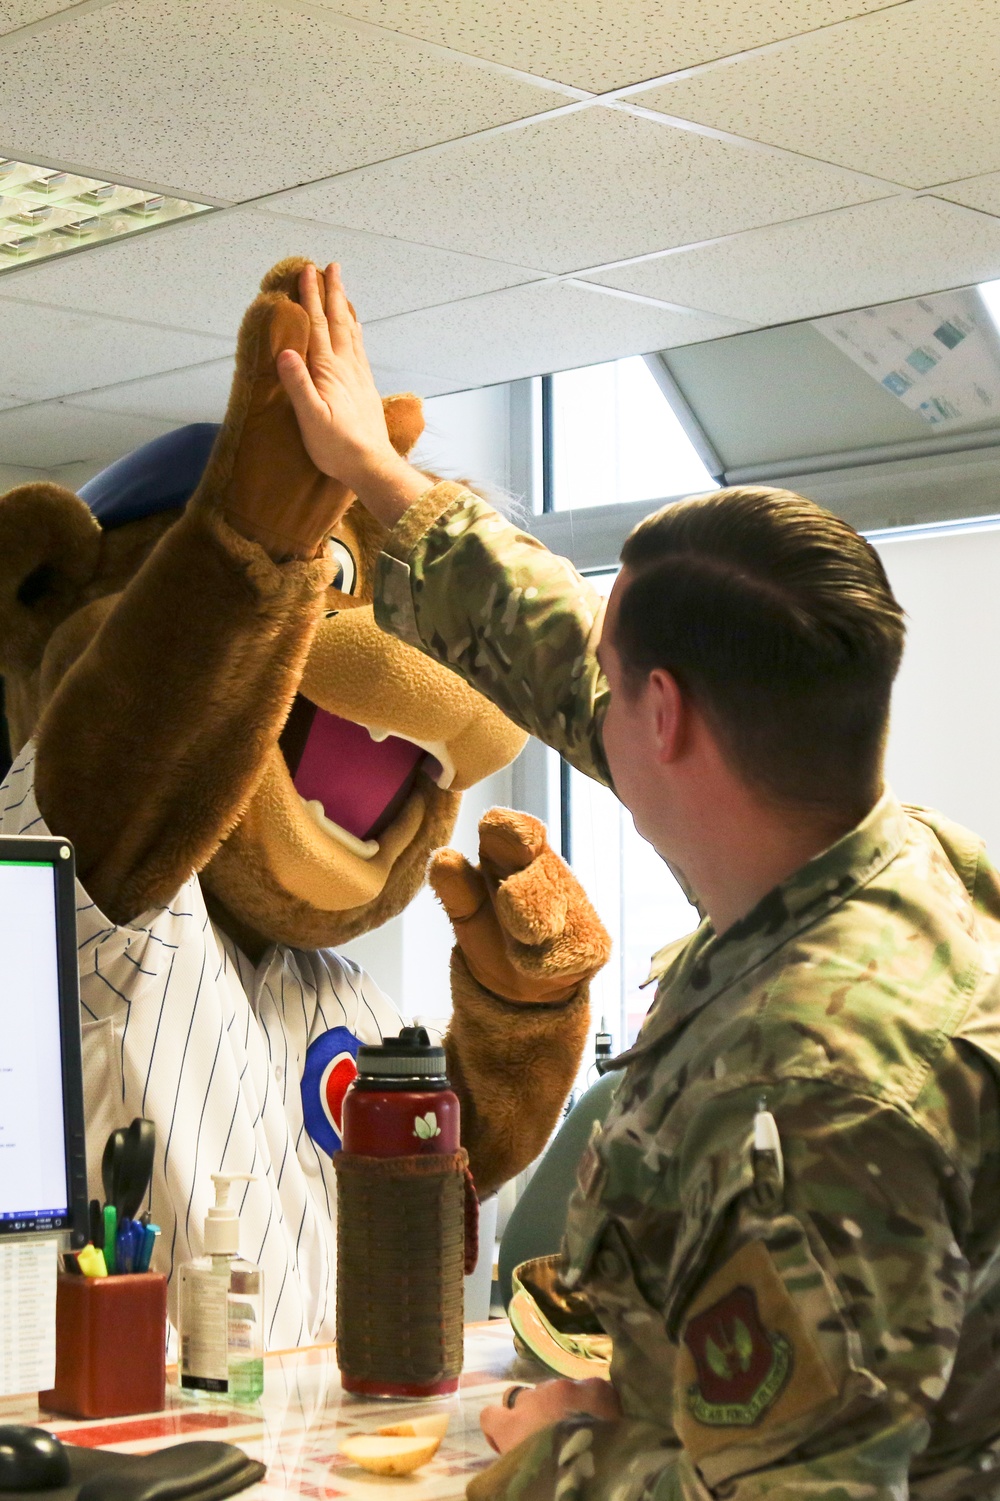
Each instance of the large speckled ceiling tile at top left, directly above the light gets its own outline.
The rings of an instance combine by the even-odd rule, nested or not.
[[[117,0],[3,50],[9,156],[252,198],[565,101],[264,0]]]

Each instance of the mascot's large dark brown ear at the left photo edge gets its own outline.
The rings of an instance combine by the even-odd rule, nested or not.
[[[53,630],[80,605],[101,555],[101,527],[60,485],[0,497],[0,669],[32,672]]]

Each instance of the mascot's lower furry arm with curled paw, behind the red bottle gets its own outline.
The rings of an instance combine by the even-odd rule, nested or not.
[[[530,814],[494,808],[479,866],[440,850],[431,886],[455,928],[449,1078],[480,1195],[545,1147],[580,1069],[590,979],[611,944]]]

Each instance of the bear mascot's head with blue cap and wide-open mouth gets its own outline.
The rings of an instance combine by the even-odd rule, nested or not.
[[[423,428],[419,399],[387,398],[386,420],[408,452]],[[0,668],[15,754],[183,513],[218,431],[198,423],[156,438],[80,497],[29,485],[0,506]],[[429,853],[447,842],[461,791],[526,738],[456,675],[378,629],[371,600],[383,539],[360,506],[329,536],[333,582],[299,693],[264,747],[255,791],[200,872],[213,914],[251,950],[342,943],[401,911]]]

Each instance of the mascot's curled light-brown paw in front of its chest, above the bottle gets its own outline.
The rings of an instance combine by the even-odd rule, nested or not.
[[[437,850],[428,877],[473,977],[503,1000],[569,1000],[608,961],[601,919],[530,814],[489,809],[479,865]]]

